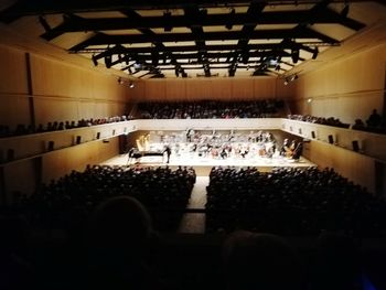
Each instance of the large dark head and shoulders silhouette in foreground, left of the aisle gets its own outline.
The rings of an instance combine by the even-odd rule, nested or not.
[[[87,283],[100,289],[160,289],[147,265],[152,224],[136,198],[117,196],[101,203],[89,225]]]

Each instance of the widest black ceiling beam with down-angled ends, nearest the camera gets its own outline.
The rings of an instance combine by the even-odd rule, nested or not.
[[[51,41],[63,33],[83,32],[83,31],[109,31],[109,30],[130,30],[130,29],[154,29],[160,26],[185,28],[185,26],[216,26],[224,25],[223,14],[204,15],[200,20],[195,18],[186,18],[184,15],[173,15],[168,19],[164,17],[147,17],[140,21],[132,21],[127,18],[104,18],[104,19],[84,19],[74,14],[64,14],[63,23],[45,32],[41,36]],[[162,25],[161,25],[162,23]],[[340,13],[325,9],[323,13],[314,14],[305,11],[281,11],[265,12],[258,18],[247,13],[236,13],[232,18],[234,25],[243,24],[296,24],[296,23],[340,23],[349,29],[358,31],[364,28],[360,23],[350,18],[342,18]]]

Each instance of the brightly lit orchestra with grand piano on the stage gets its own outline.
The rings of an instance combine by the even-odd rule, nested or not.
[[[128,163],[143,157],[160,157],[169,163],[170,157],[210,158],[216,160],[286,158],[294,161],[302,154],[302,141],[283,139],[278,143],[269,131],[228,132],[186,129],[180,133],[147,133],[128,150]]]

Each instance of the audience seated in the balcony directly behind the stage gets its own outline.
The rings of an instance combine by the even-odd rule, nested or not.
[[[142,119],[213,119],[213,118],[274,118],[281,117],[283,101],[276,99],[245,101],[179,101],[140,103]]]

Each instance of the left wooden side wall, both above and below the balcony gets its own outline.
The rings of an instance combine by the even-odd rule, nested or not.
[[[11,130],[33,121],[46,126],[49,121],[126,114],[129,88],[119,85],[111,74],[2,44],[0,64],[0,125]],[[118,149],[117,141],[90,142],[3,165],[2,196],[9,197],[14,191],[33,192],[37,183],[83,169],[87,163],[99,163],[116,155]]]

